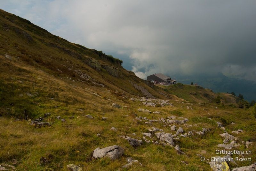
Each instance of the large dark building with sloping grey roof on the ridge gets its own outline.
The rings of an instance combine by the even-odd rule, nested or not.
[[[147,80],[150,80],[154,82],[155,84],[163,84],[163,85],[170,85],[175,84],[177,82],[176,80],[172,79],[171,77],[168,77],[162,73],[153,74],[147,77]]]

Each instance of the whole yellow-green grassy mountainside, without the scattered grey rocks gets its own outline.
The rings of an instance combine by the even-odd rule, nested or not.
[[[216,121],[240,140],[253,142],[252,154],[244,155],[252,161],[238,161],[237,165],[229,166],[252,164],[256,159],[255,118],[250,109],[227,105],[235,97],[220,95],[223,105],[213,102],[216,94],[201,87],[153,86],[124,70],[118,59],[70,43],[28,20],[0,10],[0,165],[6,168],[10,164],[15,170],[68,170],[68,164],[76,164],[92,171],[210,170],[208,162],[200,161],[197,154],[206,159],[218,156],[215,150],[223,142],[219,135],[223,130],[217,127]],[[169,101],[161,106],[157,99]],[[147,100],[156,102],[156,107],[143,105]],[[122,107],[114,108],[113,103]],[[138,108],[160,113],[139,112]],[[195,133],[176,139],[175,145],[180,145],[185,155],[178,154],[171,146],[142,139],[142,132],[148,133],[151,127],[175,134],[169,123],[160,120],[166,121],[171,115],[188,118],[186,124],[176,125],[186,133],[202,128],[210,130],[203,136]],[[139,116],[157,121],[138,119]],[[51,126],[31,125],[31,120],[38,117]],[[116,130],[111,130],[112,127]],[[237,129],[244,132],[231,133]],[[142,139],[142,145],[133,147],[122,135]],[[154,133],[147,139],[161,142]],[[111,145],[122,146],[124,155],[114,161],[92,159],[94,149]],[[241,145],[236,149],[247,148]],[[138,162],[123,168],[126,157]]]

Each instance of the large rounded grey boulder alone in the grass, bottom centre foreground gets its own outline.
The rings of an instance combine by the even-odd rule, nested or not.
[[[124,154],[124,149],[119,146],[119,145],[112,145],[109,147],[105,147],[100,149],[99,147],[96,148],[93,151],[93,156],[92,158],[103,158],[103,157],[108,157],[111,160],[115,160],[118,159],[119,157],[121,157]]]

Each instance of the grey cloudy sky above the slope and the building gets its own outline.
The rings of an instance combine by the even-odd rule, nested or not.
[[[140,78],[222,72],[256,81],[255,0],[0,0],[0,8],[121,58]]]

